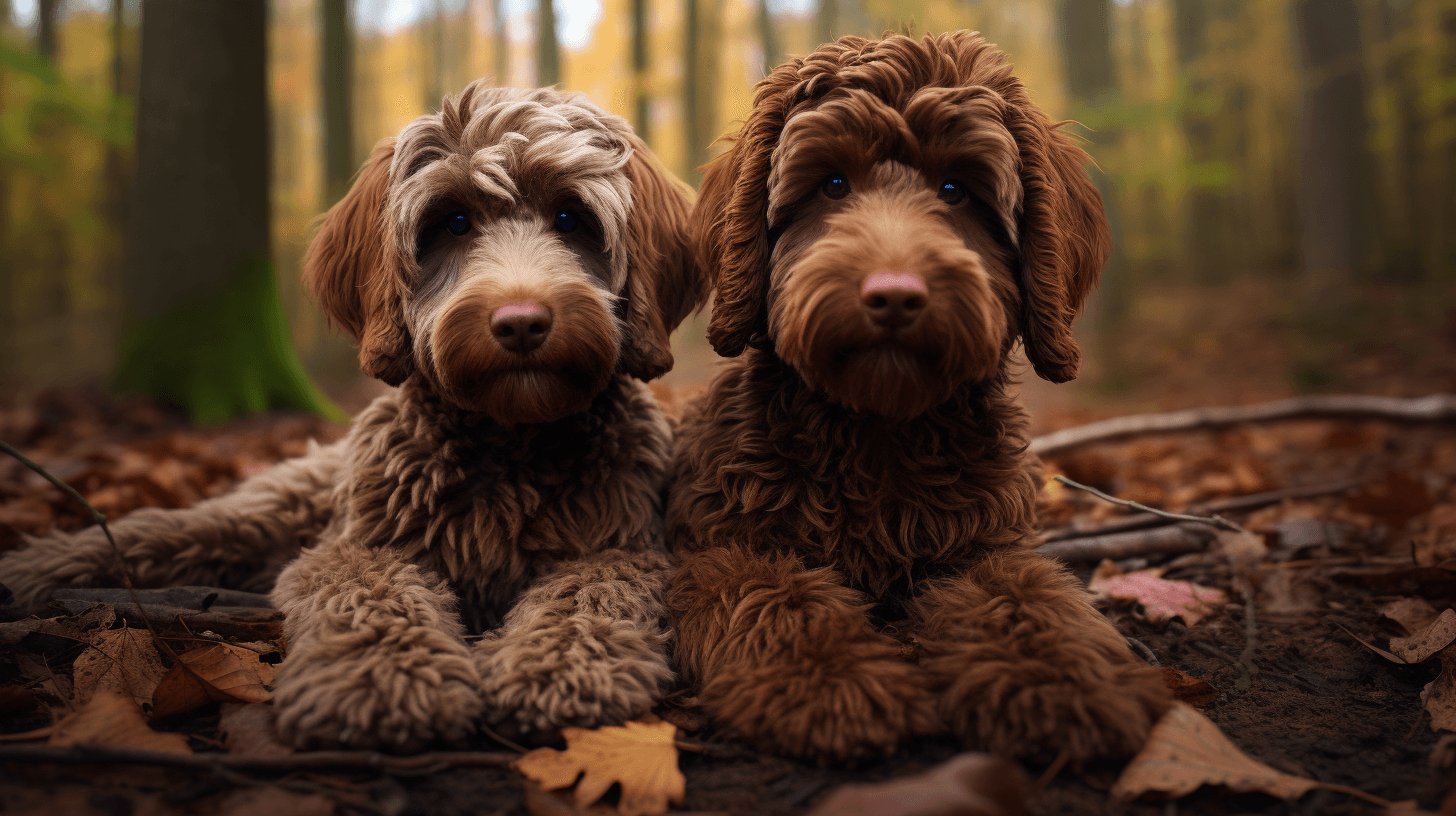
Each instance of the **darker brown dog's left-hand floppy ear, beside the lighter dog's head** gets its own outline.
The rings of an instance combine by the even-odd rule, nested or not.
[[[769,331],[769,166],[802,64],[791,60],[759,83],[748,121],[732,149],[708,165],[693,208],[697,262],[718,291],[708,341],[724,357]]]

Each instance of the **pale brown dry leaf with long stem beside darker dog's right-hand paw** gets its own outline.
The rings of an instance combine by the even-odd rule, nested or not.
[[[1219,726],[1191,705],[1175,704],[1147,734],[1147,743],[1127,764],[1112,785],[1112,797],[1128,801],[1144,793],[1188,796],[1203,785],[1223,785],[1233,793],[1267,793],[1294,800],[1313,788],[1357,796],[1382,807],[1390,803],[1345,785],[1316,782],[1275,771],[1251,759]]]

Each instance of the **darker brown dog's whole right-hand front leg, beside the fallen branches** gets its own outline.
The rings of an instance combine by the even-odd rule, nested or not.
[[[1172,704],[1066,567],[1006,549],[935,581],[911,613],[942,718],[967,743],[1073,761],[1142,748]]]

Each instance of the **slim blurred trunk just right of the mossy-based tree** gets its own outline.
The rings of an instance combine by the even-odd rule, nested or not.
[[[119,0],[118,0],[119,1]],[[349,0],[323,0],[323,179],[325,204],[349,189],[354,176],[354,26]]]

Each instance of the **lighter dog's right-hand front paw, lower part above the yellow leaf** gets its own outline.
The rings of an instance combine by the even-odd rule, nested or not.
[[[475,659],[486,720],[520,734],[641,717],[673,680],[664,640],[596,615],[485,640]]]

